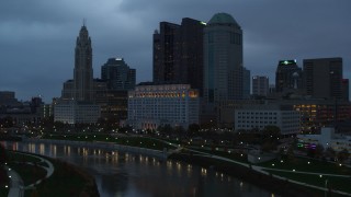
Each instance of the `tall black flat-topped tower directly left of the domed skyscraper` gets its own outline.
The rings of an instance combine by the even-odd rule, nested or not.
[[[204,22],[184,18],[181,25],[161,22],[154,34],[154,82],[203,86]]]

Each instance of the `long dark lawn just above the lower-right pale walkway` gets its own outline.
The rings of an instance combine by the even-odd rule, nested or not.
[[[340,174],[340,175],[351,175],[351,169],[344,165],[339,165],[336,163],[329,163],[326,161],[318,161],[305,158],[294,158],[293,160],[272,160],[258,164],[264,167],[282,169],[282,170],[295,170],[303,172],[314,172],[322,174]],[[309,163],[308,163],[309,162]],[[272,165],[274,164],[274,166]]]

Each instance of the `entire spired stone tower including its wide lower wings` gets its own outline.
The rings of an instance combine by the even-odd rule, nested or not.
[[[73,80],[64,83],[61,97],[54,106],[54,120],[67,124],[97,123],[100,106],[94,104],[94,96],[97,91],[104,90],[106,82],[93,79],[91,38],[83,24],[76,42]]]

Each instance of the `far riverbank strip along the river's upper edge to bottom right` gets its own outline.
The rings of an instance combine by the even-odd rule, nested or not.
[[[268,190],[274,192],[278,195],[322,196],[325,195],[325,193],[329,193],[329,196],[342,196],[342,195],[335,194],[336,190],[333,190],[332,195],[330,195],[331,194],[330,192],[324,190],[326,187],[319,186],[317,188],[314,183],[310,183],[312,185],[304,184],[305,183],[304,181],[299,181],[297,183],[296,181],[294,181],[294,178],[290,178],[288,176],[281,176],[276,172],[270,172],[270,171],[265,172],[264,169],[267,167],[261,167],[256,165],[252,165],[252,167],[249,167],[251,165],[247,161],[241,161],[242,154],[238,154],[238,158],[239,158],[238,160],[236,157],[234,157],[233,153],[230,153],[230,157],[226,154],[226,155],[223,155],[225,157],[223,158],[223,157],[218,157],[217,154],[214,154],[213,152],[184,148],[184,150],[188,150],[188,152],[189,151],[192,152],[192,154],[189,154],[191,157],[186,158],[186,154],[179,154],[179,151],[165,152],[165,151],[157,151],[157,150],[139,148],[139,147],[121,146],[121,144],[115,144],[111,142],[95,143],[95,142],[87,142],[87,141],[65,141],[65,140],[43,140],[43,139],[42,140],[34,139],[31,142],[44,142],[44,141],[47,143],[59,142],[59,144],[75,144],[75,146],[87,147],[87,148],[99,148],[107,151],[117,150],[117,151],[125,151],[125,152],[138,153],[144,155],[150,155],[149,152],[152,152],[152,153],[157,153],[157,155],[161,158],[167,158],[167,155],[171,153],[173,155],[171,155],[170,159],[173,159],[177,161],[184,161],[186,163],[193,163],[193,164],[205,166],[205,167],[211,166],[212,169],[223,172],[224,174],[228,174],[234,177],[241,178],[261,188],[265,188]],[[165,144],[171,144],[173,149],[179,149],[179,146],[177,144],[169,143],[167,141],[162,141],[162,142]],[[158,158],[157,155],[151,155],[151,157]],[[178,155],[185,155],[185,159],[183,157],[178,157]],[[278,177],[278,176],[281,176],[281,177]],[[349,195],[349,194],[344,194],[344,195]]]

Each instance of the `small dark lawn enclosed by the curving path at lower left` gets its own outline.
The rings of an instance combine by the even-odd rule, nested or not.
[[[13,162],[9,162],[8,164],[22,177],[24,186],[34,184],[46,176],[46,171],[41,166]]]

